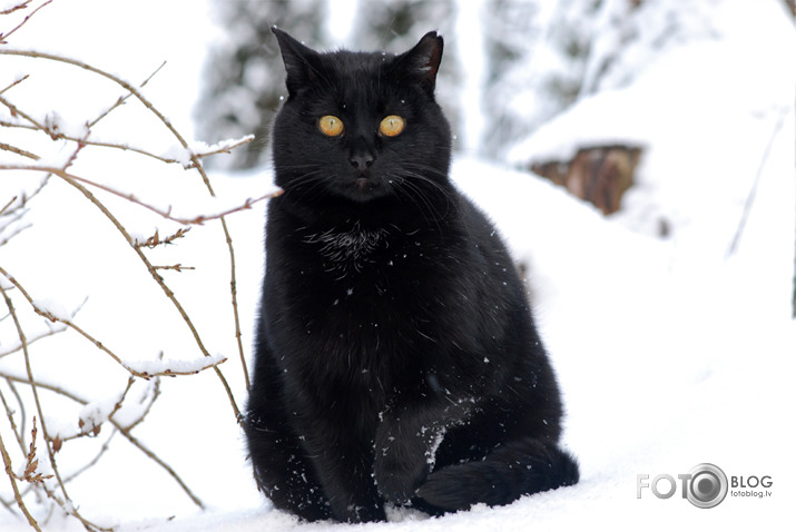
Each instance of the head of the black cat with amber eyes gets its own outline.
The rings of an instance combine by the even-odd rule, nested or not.
[[[273,130],[285,198],[422,203],[444,190],[451,132],[434,99],[442,37],[430,32],[401,55],[321,53],[273,31],[287,72]]]

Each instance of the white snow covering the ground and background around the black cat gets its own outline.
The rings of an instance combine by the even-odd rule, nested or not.
[[[0,2],[0,10],[10,3]],[[478,11],[472,10],[482,9],[480,2],[463,3],[471,7],[460,13],[462,31],[478,26]],[[463,149],[453,168],[462,190],[490,214],[517,258],[529,265],[538,322],[564,393],[564,444],[580,460],[580,484],[507,508],[475,508],[442,519],[395,512],[392,522],[357,529],[572,530],[599,524],[616,530],[784,530],[793,524],[793,18],[778,0],[706,0],[682,8],[650,0],[641,2],[646,10],[617,26],[611,18],[623,3],[603,2],[598,13],[594,27],[606,31],[593,39],[593,57],[613,60],[599,80],[592,76],[588,95],[518,136],[501,161],[479,156],[478,140],[460,139]],[[56,0],[8,46],[79,58],[136,83],[166,60],[143,92],[190,136],[207,46],[223,37],[209,6],[196,0],[120,6]],[[557,20],[554,14],[549,18]],[[677,35],[660,45],[656,37],[668,35],[672,20],[679,21]],[[7,31],[2,18],[0,22],[0,31]],[[446,35],[446,43],[472,47],[463,42],[464,35],[471,36]],[[641,38],[623,46],[631,35]],[[541,65],[533,70],[561,68],[540,50]],[[588,61],[582,65],[584,79],[598,70]],[[31,78],[4,96],[42,117],[57,109],[63,125],[81,124],[120,93],[112,85],[83,80],[73,68],[0,56],[0,87],[20,73]],[[478,101],[478,86],[472,79],[465,86],[472,90],[462,101]],[[535,104],[519,91],[509,104],[520,116],[535,112]],[[153,132],[158,129],[143,108],[128,107],[104,122],[98,135],[168,151],[174,141]],[[465,115],[473,115],[472,124],[484,120],[473,109]],[[0,108],[0,118],[7,117],[8,110]],[[0,142],[13,144],[14,135],[19,132],[0,128]],[[563,189],[512,169],[531,157],[571,155],[577,146],[594,141],[647,148],[623,209],[607,219]],[[55,159],[59,155],[58,148],[51,154]],[[13,157],[0,151],[0,165],[18,162]],[[202,208],[206,196],[197,175],[115,150],[87,149],[70,170],[187,210]],[[212,179],[220,197],[259,197],[271,187],[267,167],[218,170]],[[38,180],[32,174],[0,173],[0,205],[19,190],[35,188]],[[748,221],[730,250],[753,189]],[[174,224],[140,207],[106,200],[140,235],[175,230]],[[29,208],[29,227],[0,246],[0,266],[35,298],[52,308],[80,308],[75,321],[127,361],[154,361],[161,352],[166,358],[200,358],[174,307],[82,196],[53,178]],[[228,217],[246,348],[262,272],[263,209],[261,203]],[[660,219],[672,227],[668,238],[657,236]],[[194,317],[208,351],[228,357],[220,367],[243,404],[245,384],[229,317],[229,264],[218,225],[195,227],[178,245],[156,253],[159,263],[196,268],[163,275]],[[31,333],[46,327],[18,294],[9,294]],[[9,319],[0,322],[0,353],[18,341]],[[128,378],[69,332],[36,343],[31,358],[39,380],[67,386],[98,405],[112,404]],[[20,355],[0,357],[0,372],[22,371]],[[0,380],[0,388],[8,391],[3,386]],[[139,382],[131,394],[146,400],[151,385]],[[79,405],[52,400],[48,406],[51,432],[75,431]],[[4,416],[0,434],[10,446]],[[60,467],[78,470],[111,434],[104,427],[96,439],[65,443]],[[240,430],[212,372],[164,380],[151,412],[132,434],[183,477],[206,510],[197,509],[161,467],[115,435],[97,464],[69,483],[71,499],[92,522],[155,532],[350,528],[302,524],[271,509],[254,486]],[[45,453],[39,454],[46,469]],[[14,467],[23,466],[19,452],[12,459]],[[772,496],[730,493],[711,510],[692,506],[679,491],[659,500],[646,490],[637,499],[638,474],[676,477],[702,462],[729,476],[769,475]],[[0,497],[12,501],[6,479],[0,475]],[[57,511],[48,515],[32,496],[26,503],[45,530],[83,530]],[[28,525],[0,506],[0,530]]]

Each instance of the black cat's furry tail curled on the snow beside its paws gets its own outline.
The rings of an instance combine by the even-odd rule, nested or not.
[[[479,462],[442,467],[417,490],[426,503],[446,512],[476,503],[509,504],[522,495],[578,483],[578,462],[554,443],[509,442]]]

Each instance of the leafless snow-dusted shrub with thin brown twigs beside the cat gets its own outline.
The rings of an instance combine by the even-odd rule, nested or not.
[[[132,431],[140,423],[145,422],[153,404],[160,396],[160,380],[164,376],[190,375],[205,370],[216,373],[218,382],[224,387],[233,410],[233,415],[239,420],[240,412],[233,396],[230,386],[227,383],[219,364],[226,357],[212,355],[205,347],[205,342],[199,329],[196,327],[191,316],[183,306],[169,287],[163,272],[183,272],[190,269],[190,266],[181,264],[159,265],[150,258],[150,252],[166,246],[177,244],[184,239],[189,229],[196,225],[218,224],[223,229],[226,248],[229,256],[230,274],[226,282],[230,286],[230,307],[235,322],[235,334],[240,358],[240,366],[248,385],[248,375],[245,365],[243,342],[240,338],[240,326],[238,318],[236,273],[235,273],[235,249],[227,228],[226,217],[239,210],[248,209],[253,204],[269,196],[247,199],[237,205],[227,205],[217,208],[212,213],[199,213],[191,215],[177,215],[175,209],[153,205],[130,191],[135,189],[131,184],[107,184],[81,175],[75,170],[75,162],[88,150],[118,150],[135,156],[148,158],[163,165],[181,165],[186,171],[193,173],[204,183],[208,196],[216,194],[210,184],[208,175],[205,173],[202,159],[215,154],[228,152],[252,140],[250,137],[239,140],[222,142],[219,145],[196,146],[190,145],[175,126],[145,97],[143,88],[149,81],[148,78],[140,85],[130,83],[116,75],[96,68],[91,65],[72,58],[60,57],[37,50],[20,50],[9,48],[10,38],[20,28],[29,22],[31,17],[41,8],[50,3],[45,1],[33,7],[32,0],[20,0],[17,4],[0,11],[0,22],[3,17],[16,17],[11,20],[10,30],[0,31],[0,68],[3,58],[16,57],[24,61],[45,62],[47,65],[61,65],[69,68],[89,72],[96,78],[110,81],[118,89],[118,99],[97,116],[89,117],[79,127],[69,127],[59,119],[58,114],[50,114],[45,119],[38,118],[35,112],[24,108],[23,104],[18,104],[14,96],[20,88],[24,88],[28,75],[22,75],[6,87],[0,87],[0,129],[19,135],[12,135],[11,141],[0,142],[0,181],[6,177],[24,176],[31,184],[27,191],[10,193],[0,188],[0,248],[7,246],[9,242],[18,238],[30,225],[26,221],[29,214],[31,199],[36,198],[53,180],[61,180],[79,193],[86,199],[87,209],[97,209],[115,229],[119,238],[132,249],[131,260],[139,260],[149,273],[151,282],[165,294],[167,301],[174,306],[183,323],[190,331],[196,343],[196,347],[204,355],[203,359],[190,363],[175,363],[163,359],[146,361],[145,363],[131,363],[122,354],[117,353],[101,339],[101,332],[87,331],[80,324],[79,311],[65,311],[42,304],[37,299],[37,287],[26,285],[23,272],[10,272],[6,269],[0,256],[0,403],[4,412],[6,427],[0,430],[0,454],[2,456],[4,473],[10,481],[10,499],[3,499],[0,492],[0,505],[6,506],[11,512],[19,512],[27,522],[36,530],[40,525],[35,519],[29,506],[36,504],[43,505],[46,515],[53,509],[60,509],[67,515],[77,519],[89,531],[109,530],[100,524],[90,521],[82,515],[79,505],[73,501],[68,491],[68,484],[76,476],[90,467],[94,467],[99,459],[108,451],[114,441],[120,436],[132,444],[141,456],[151,460],[165,470],[174,481],[184,490],[187,496],[197,506],[203,508],[202,501],[191,492],[180,476],[165,462],[155,451],[147,447],[141,441],[134,436]],[[21,16],[20,13],[26,13]],[[158,69],[159,70],[159,69]],[[156,72],[157,73],[157,70]],[[155,73],[153,76],[155,76]],[[137,100],[144,112],[155,117],[160,129],[165,129],[175,141],[176,148],[169,150],[170,155],[156,154],[147,148],[132,146],[121,141],[104,141],[94,135],[98,124],[107,120],[122,108],[128,100]],[[30,141],[30,135],[36,134],[36,141]],[[66,154],[60,160],[48,158],[41,152],[41,139],[46,142],[57,142],[59,151]],[[159,235],[157,231],[146,238],[134,236],[134,234],[115,214],[107,200],[100,199],[111,195],[122,198],[129,204],[140,209],[155,213],[159,217],[178,224],[180,228],[169,235]],[[137,258],[136,258],[137,257]],[[21,316],[21,309],[28,314],[30,311],[38,315],[37,322],[26,319]],[[32,315],[32,314],[31,314]],[[43,318],[43,319],[42,319]],[[55,383],[40,378],[33,372],[31,358],[35,344],[45,338],[61,335],[78,335],[88,342],[88,346],[96,349],[102,356],[109,357],[124,372],[128,374],[126,386],[118,392],[116,397],[102,403],[92,403],[88,397],[70,388],[68,382]],[[8,364],[7,364],[8,363]],[[21,371],[17,368],[22,368]],[[81,414],[77,423],[77,428],[71,434],[63,434],[48,427],[47,405],[41,400],[42,394],[47,394],[49,400],[80,405]],[[135,395],[135,400],[130,397]],[[125,415],[121,415],[121,414]],[[109,430],[102,431],[102,427]],[[100,433],[102,436],[100,436]],[[6,435],[6,439],[3,439]],[[97,441],[95,456],[82,467],[70,475],[63,475],[59,469],[59,456],[72,440],[94,439]],[[60,454],[59,454],[60,453]],[[41,513],[41,512],[39,512]],[[37,513],[38,514],[38,513]]]

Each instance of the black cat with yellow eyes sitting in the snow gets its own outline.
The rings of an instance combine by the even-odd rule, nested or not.
[[[577,483],[511,257],[448,177],[442,38],[318,53],[273,31],[288,97],[245,422],[259,487],[301,518],[360,522]]]

